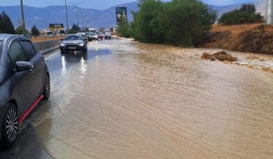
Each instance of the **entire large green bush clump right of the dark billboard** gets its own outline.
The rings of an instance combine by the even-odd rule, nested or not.
[[[215,11],[197,0],[167,3],[145,0],[141,1],[139,12],[133,12],[133,17],[129,28],[122,28],[136,40],[194,46],[211,30],[217,16]]]

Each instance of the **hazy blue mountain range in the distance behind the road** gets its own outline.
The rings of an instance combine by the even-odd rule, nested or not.
[[[263,2],[264,0],[261,0]],[[263,10],[261,3],[259,10]],[[128,19],[132,21],[131,10],[137,11],[136,2],[124,3],[118,6],[126,6],[128,10]],[[211,6],[214,10],[218,11],[218,16],[224,12],[228,12],[237,8],[240,8],[241,4],[231,6]],[[116,6],[108,8],[107,10],[94,10],[86,8],[78,8],[79,12],[79,24],[82,25],[82,17],[84,19],[84,26],[87,27],[109,27],[116,26],[115,10]],[[76,8],[74,6],[68,6],[69,26],[73,23],[77,24]],[[18,26],[18,20],[21,19],[21,10],[19,6],[0,6],[0,12],[7,12],[15,26]],[[26,26],[30,28],[36,25],[38,28],[48,28],[49,24],[58,23],[66,24],[65,8],[64,6],[49,6],[46,8],[34,8],[30,6],[24,6]]]

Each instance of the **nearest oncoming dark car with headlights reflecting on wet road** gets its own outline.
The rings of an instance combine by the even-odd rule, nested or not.
[[[67,53],[69,51],[81,51],[87,52],[87,41],[81,34],[67,35],[60,44],[61,53]]]

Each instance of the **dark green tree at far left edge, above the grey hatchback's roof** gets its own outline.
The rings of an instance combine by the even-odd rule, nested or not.
[[[0,33],[15,34],[15,27],[5,12],[0,15]]]

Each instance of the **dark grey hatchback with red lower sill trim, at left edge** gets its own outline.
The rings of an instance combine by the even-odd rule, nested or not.
[[[50,95],[49,71],[44,57],[30,39],[0,34],[0,139],[11,147],[19,123],[39,100]]]

